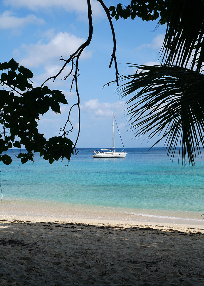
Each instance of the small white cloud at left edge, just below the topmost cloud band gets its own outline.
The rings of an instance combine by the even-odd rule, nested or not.
[[[27,15],[24,18],[18,18],[11,11],[4,11],[0,18],[1,29],[18,29],[28,24],[44,24],[44,20],[35,15]]]

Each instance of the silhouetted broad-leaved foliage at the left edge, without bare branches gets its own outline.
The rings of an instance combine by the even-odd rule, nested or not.
[[[64,94],[59,90],[50,90],[47,86],[33,88],[29,80],[33,73],[19,66],[13,58],[8,63],[2,63],[1,70],[7,70],[7,73],[1,74],[0,124],[3,131],[0,134],[0,154],[12,147],[23,146],[27,153],[20,152],[17,156],[22,164],[33,161],[35,152],[40,152],[50,164],[59,158],[70,160],[73,154],[70,139],[55,136],[47,140],[37,129],[39,114],[46,113],[50,108],[60,113],[59,103],[68,104]],[[12,160],[3,154],[0,155],[0,161],[9,165]]]

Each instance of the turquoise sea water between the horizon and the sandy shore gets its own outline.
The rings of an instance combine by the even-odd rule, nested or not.
[[[127,148],[126,158],[92,158],[93,149],[50,165],[34,155],[34,163],[0,162],[3,201],[36,200],[125,208],[130,213],[158,211],[198,217],[204,211],[203,158],[196,166],[170,161],[163,148]],[[16,150],[13,150],[14,153]],[[23,152],[23,150],[22,150]],[[204,156],[203,156],[204,157]],[[3,181],[7,180],[7,181]]]

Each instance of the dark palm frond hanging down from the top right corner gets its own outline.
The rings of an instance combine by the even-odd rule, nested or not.
[[[166,35],[161,49],[163,64],[175,64],[201,71],[203,66],[203,0],[170,1],[161,15],[159,24],[167,22]]]

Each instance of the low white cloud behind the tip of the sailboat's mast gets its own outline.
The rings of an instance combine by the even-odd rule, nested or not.
[[[111,113],[117,113],[117,115],[124,115],[125,101],[116,102],[99,102],[98,99],[90,99],[81,105],[83,112],[92,113],[95,119],[101,120],[104,117],[110,117]]]

